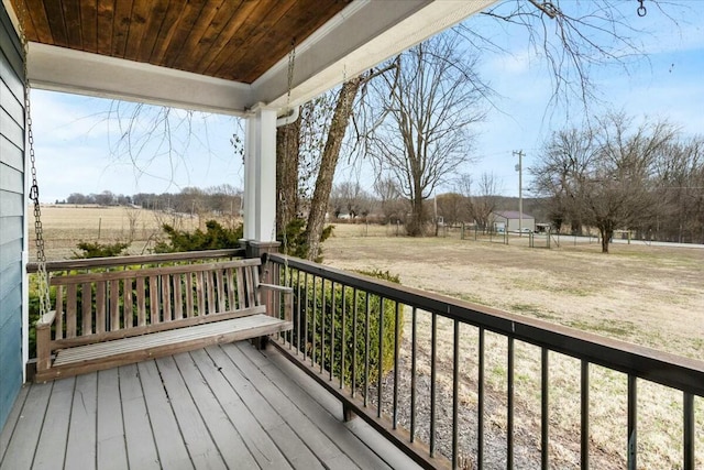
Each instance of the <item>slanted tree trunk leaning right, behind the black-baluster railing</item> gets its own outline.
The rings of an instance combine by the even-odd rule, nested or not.
[[[338,166],[338,157],[344,132],[348,128],[350,116],[352,114],[352,106],[360,85],[364,77],[358,77],[345,81],[340,90],[338,103],[332,114],[330,131],[326,140],[326,146],[320,159],[320,170],[316,179],[316,189],[310,201],[310,211],[308,212],[308,259],[316,260],[320,255],[320,237],[326,222],[326,214],[328,212],[328,201],[330,199],[330,190],[332,190],[332,177]]]

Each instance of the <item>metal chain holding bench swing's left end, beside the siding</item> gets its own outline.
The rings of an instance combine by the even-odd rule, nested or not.
[[[20,32],[20,42],[22,44],[22,73],[24,74],[24,112],[26,116],[26,143],[30,154],[30,171],[32,174],[32,186],[30,187],[30,199],[34,205],[34,233],[36,244],[36,261],[37,261],[37,294],[40,297],[40,315],[43,316],[51,309],[52,300],[48,287],[48,274],[46,272],[46,253],[44,251],[44,229],[42,227],[42,207],[40,205],[40,186],[36,179],[36,157],[34,154],[34,134],[32,132],[32,109],[30,102],[30,78],[28,73],[28,58],[30,53],[30,42],[26,39],[26,32],[24,30],[24,20],[28,17],[28,11],[22,4],[22,11],[18,18],[18,29]]]

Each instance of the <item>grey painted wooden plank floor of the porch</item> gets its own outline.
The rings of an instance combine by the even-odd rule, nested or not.
[[[25,385],[1,469],[413,468],[282,357],[246,342]]]

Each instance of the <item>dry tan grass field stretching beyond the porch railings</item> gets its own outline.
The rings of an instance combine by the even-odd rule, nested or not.
[[[124,208],[43,208],[47,255],[70,256],[76,243],[131,240],[131,253],[147,252],[163,222],[195,228],[205,218]],[[224,221],[229,223],[231,221]],[[597,243],[561,243],[530,249],[526,238],[509,244],[446,238],[397,237],[395,227],[338,225],[323,247],[324,263],[345,270],[382,270],[404,285],[487,305],[515,314],[617,338],[690,358],[704,358],[704,250],[615,244],[602,254]],[[402,362],[408,364],[410,315],[405,316]],[[419,317],[429,338],[430,317]],[[451,363],[452,326],[439,323],[441,363]],[[466,405],[461,438],[472,436],[476,404],[475,328],[462,327],[461,401]],[[487,334],[486,426],[491,448],[502,452],[506,428],[506,340]],[[429,374],[429,341],[419,345],[421,374]],[[517,468],[539,467],[540,351],[516,345]],[[579,468],[579,361],[551,354],[551,448],[554,468]],[[446,371],[440,402],[451,396]],[[402,380],[404,374],[402,373]],[[623,374],[592,368],[592,467],[618,469],[626,459],[626,382]],[[645,469],[681,468],[682,396],[639,381],[639,461]],[[403,401],[403,397],[402,397]],[[696,398],[697,467],[704,468],[704,400]],[[402,423],[404,417],[402,416]],[[406,423],[407,425],[407,423]],[[442,428],[439,434],[446,433]],[[447,449],[446,449],[447,450]],[[490,449],[491,450],[491,449]],[[441,448],[442,451],[442,448]],[[496,467],[502,467],[496,461]],[[471,459],[468,463],[471,467]],[[488,466],[494,468],[494,466]]]

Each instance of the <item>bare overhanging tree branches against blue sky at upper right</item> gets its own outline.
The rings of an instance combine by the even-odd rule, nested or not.
[[[673,28],[679,25],[674,15],[685,18],[689,9],[668,0],[646,3],[649,14],[659,14],[659,21],[670,21]],[[604,99],[592,80],[595,68],[615,67],[628,74],[636,62],[647,58],[644,37],[649,32],[635,1],[504,0],[481,17],[495,20],[507,32],[525,33],[526,45],[550,72],[552,96],[547,111],[562,103],[566,112],[588,113],[591,106]],[[492,35],[473,28],[473,20],[454,30],[475,50],[505,54]]]

